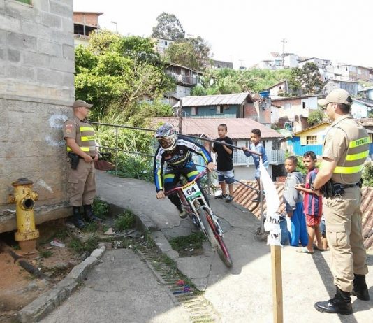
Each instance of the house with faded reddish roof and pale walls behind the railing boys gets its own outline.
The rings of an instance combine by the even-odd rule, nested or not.
[[[177,117],[161,117],[153,120],[154,125],[158,126],[160,123],[172,123],[179,130],[180,120]],[[267,153],[270,166],[268,173],[275,176],[281,171],[281,164],[284,164],[285,152],[279,150],[279,140],[282,138],[281,134],[265,127],[249,118],[198,118],[198,117],[183,117],[182,118],[182,134],[189,136],[204,136],[205,138],[217,138],[217,127],[224,123],[228,128],[228,136],[232,138],[233,145],[237,147],[248,147],[250,143],[251,129],[257,128],[261,130],[261,143],[263,144]],[[199,164],[202,161],[199,162]],[[254,179],[255,166],[252,157],[247,158],[242,150],[234,150],[233,153],[233,168],[235,171],[235,178],[237,180]]]

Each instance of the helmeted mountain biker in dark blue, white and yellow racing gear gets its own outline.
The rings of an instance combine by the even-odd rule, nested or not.
[[[207,164],[207,171],[212,172],[214,170],[215,165],[212,162],[212,158],[203,145],[193,143],[193,141],[187,138],[178,138],[173,124],[163,124],[163,126],[157,129],[155,137],[159,142],[153,167],[157,199],[164,199],[166,197],[164,192],[176,187],[180,175],[184,175],[188,182],[196,178],[198,171],[191,158],[191,152],[203,157]],[[165,163],[166,168],[163,175],[163,166]],[[201,192],[203,192],[203,189],[201,189]],[[179,216],[184,219],[186,212],[182,207],[179,196],[176,193],[170,194],[168,199],[177,207]]]

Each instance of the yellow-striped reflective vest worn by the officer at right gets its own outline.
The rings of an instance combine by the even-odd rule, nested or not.
[[[354,184],[361,178],[365,159],[369,155],[370,138],[366,129],[349,117],[337,122],[334,127],[342,129],[342,133],[346,134],[348,147],[337,162],[332,180],[342,184]]]

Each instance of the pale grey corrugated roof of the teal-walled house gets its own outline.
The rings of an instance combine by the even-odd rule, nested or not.
[[[182,98],[182,106],[224,106],[228,104],[242,104],[249,97],[249,102],[254,102],[249,92],[221,95],[185,96]],[[180,106],[176,103],[174,108]]]

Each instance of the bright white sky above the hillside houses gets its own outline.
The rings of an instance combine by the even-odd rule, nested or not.
[[[101,28],[150,36],[163,11],[186,34],[201,36],[213,58],[251,66],[285,52],[373,67],[372,0],[74,0],[74,11],[101,12]]]

